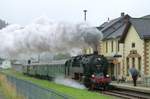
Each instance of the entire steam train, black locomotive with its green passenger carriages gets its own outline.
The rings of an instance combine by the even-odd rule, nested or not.
[[[52,61],[49,64],[28,64],[23,66],[23,73],[49,80],[61,75],[78,80],[91,89],[105,89],[111,82],[107,75],[108,66],[107,59],[94,52],[67,60]]]

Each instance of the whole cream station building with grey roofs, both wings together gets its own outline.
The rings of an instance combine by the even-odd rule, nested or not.
[[[109,73],[114,79],[131,79],[129,69],[135,65],[140,77],[150,76],[150,16],[132,18],[121,16],[97,27],[103,33],[99,54],[107,57]],[[92,53],[88,48],[86,53]]]

